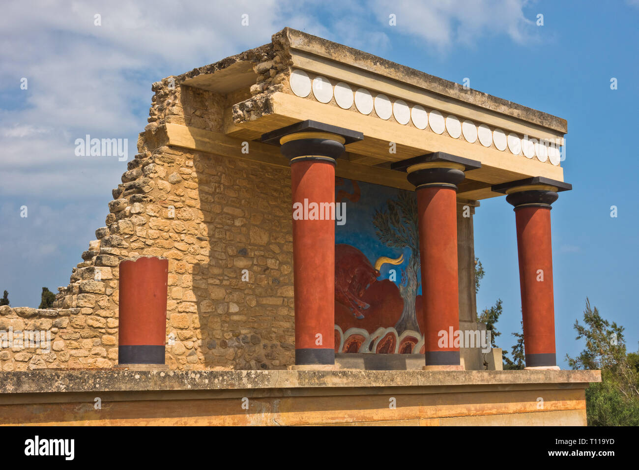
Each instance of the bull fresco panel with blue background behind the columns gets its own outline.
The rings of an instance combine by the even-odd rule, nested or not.
[[[335,352],[423,354],[415,194],[336,178],[335,202]]]

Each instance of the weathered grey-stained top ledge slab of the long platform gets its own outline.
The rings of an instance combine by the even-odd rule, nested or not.
[[[34,370],[0,373],[0,394],[263,388],[578,385],[601,382],[598,370]]]

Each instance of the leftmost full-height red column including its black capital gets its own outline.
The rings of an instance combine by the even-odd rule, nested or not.
[[[335,368],[335,160],[363,138],[310,120],[262,136],[291,162],[296,368]]]

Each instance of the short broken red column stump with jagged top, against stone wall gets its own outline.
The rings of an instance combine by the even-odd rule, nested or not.
[[[164,364],[168,276],[166,258],[119,264],[119,364]]]

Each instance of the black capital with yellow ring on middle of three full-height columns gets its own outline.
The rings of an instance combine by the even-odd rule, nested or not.
[[[394,162],[390,168],[406,171],[408,182],[414,185],[415,189],[449,187],[457,191],[457,185],[465,177],[464,172],[481,168],[481,163],[450,153],[433,152]]]

